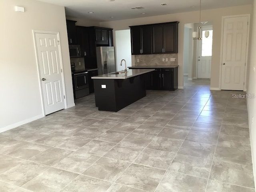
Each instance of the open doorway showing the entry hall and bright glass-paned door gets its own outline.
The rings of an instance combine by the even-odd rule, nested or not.
[[[194,40],[193,32],[202,26],[202,40]],[[209,31],[206,38],[205,32]],[[184,83],[206,84],[210,87],[212,60],[212,22],[184,25],[183,74]]]

